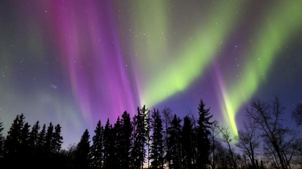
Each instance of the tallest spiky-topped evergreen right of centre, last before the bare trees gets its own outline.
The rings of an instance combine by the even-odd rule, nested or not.
[[[198,128],[197,128],[197,168],[206,168],[209,164],[210,141],[208,135],[209,128],[213,122],[210,122],[212,115],[209,113],[209,108],[205,108],[203,100],[200,100],[198,107]]]

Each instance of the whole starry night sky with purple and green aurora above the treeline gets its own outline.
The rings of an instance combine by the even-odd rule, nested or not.
[[[302,102],[301,1],[1,1],[0,118],[64,145],[137,106],[241,128],[252,98]],[[287,122],[286,125],[293,125]]]

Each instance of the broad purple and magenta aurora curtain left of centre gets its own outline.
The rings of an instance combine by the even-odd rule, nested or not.
[[[135,110],[110,2],[60,1],[53,10],[62,66],[83,117],[88,121],[98,116],[116,118],[124,110]]]

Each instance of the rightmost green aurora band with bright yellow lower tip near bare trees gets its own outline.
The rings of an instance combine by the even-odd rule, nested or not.
[[[249,49],[250,55],[247,56],[248,59],[243,66],[241,78],[235,81],[233,79],[229,83],[231,86],[229,89],[220,82],[223,98],[220,108],[224,112],[225,121],[232,126],[234,134],[238,133],[235,122],[238,110],[251,99],[260,84],[265,81],[282,45],[301,28],[301,7],[300,1],[280,2],[274,6],[256,32],[255,46]],[[217,78],[223,81],[219,73]]]

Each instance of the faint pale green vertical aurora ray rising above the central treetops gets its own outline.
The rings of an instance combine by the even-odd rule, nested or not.
[[[166,57],[169,56],[167,2],[132,1],[131,6],[134,17],[132,21],[130,20],[133,29],[129,32],[134,35],[132,47],[135,54],[132,62],[135,68],[140,70],[134,72],[135,83],[138,86],[141,105],[153,105],[141,97],[144,90],[142,86],[148,83],[150,77],[161,73],[164,65],[169,62],[169,58]],[[157,68],[152,65],[157,65]]]

